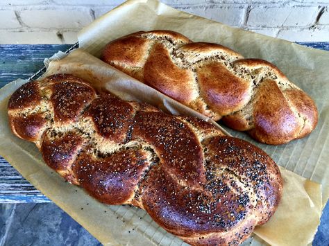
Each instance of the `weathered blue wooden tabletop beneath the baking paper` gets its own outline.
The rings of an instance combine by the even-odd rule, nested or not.
[[[329,42],[300,43],[329,51]],[[71,44],[0,45],[0,88],[17,78],[27,79],[43,67],[44,58],[66,51]],[[0,156],[0,203],[51,202]]]

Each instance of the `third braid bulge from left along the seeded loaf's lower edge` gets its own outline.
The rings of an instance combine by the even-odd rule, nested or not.
[[[148,167],[143,150],[122,150],[103,158],[83,152],[73,164],[73,173],[92,197],[106,204],[124,204],[134,197],[135,186]]]

